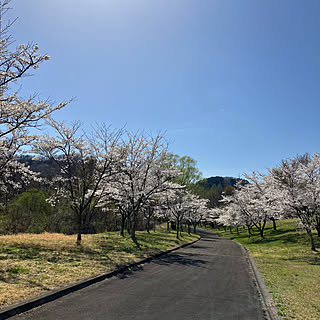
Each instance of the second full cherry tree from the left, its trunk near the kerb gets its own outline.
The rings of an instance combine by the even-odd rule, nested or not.
[[[126,219],[131,238],[136,241],[139,215],[155,195],[170,187],[169,181],[176,177],[177,172],[168,166],[165,157],[167,144],[161,135],[145,137],[127,133],[123,146],[126,158],[112,186],[116,203],[123,212],[122,220]]]

